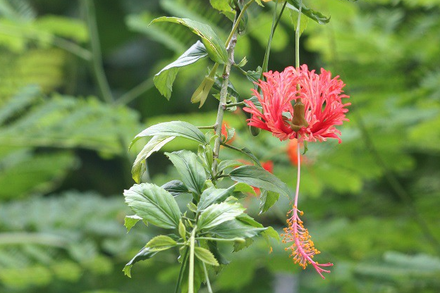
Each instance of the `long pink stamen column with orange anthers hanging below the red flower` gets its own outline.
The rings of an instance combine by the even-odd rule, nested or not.
[[[293,208],[288,212],[291,214],[291,218],[288,218],[288,227],[284,228],[283,243],[290,243],[290,247],[286,247],[287,250],[291,250],[291,256],[293,261],[298,263],[303,269],[311,264],[314,269],[321,275],[323,279],[324,275],[322,273],[330,273],[330,270],[324,270],[322,267],[333,266],[333,263],[317,263],[313,260],[313,257],[320,254],[320,251],[314,248],[314,243],[311,239],[309,231],[302,225],[302,220],[298,213],[302,216],[302,211],[298,210],[298,196],[300,194],[300,177],[301,177],[301,160],[300,160],[300,148],[297,149],[298,154],[298,174],[296,180],[295,189],[295,199],[293,203]]]

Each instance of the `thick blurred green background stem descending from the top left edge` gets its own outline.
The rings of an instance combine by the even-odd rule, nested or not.
[[[96,15],[94,13],[93,0],[82,0],[81,5],[85,12],[85,20],[90,35],[90,47],[92,49],[92,68],[94,77],[97,80],[99,91],[102,94],[102,99],[111,104],[113,103],[113,96],[111,95],[109,82],[107,82],[104,68],[102,68],[101,46],[99,45],[99,35]]]

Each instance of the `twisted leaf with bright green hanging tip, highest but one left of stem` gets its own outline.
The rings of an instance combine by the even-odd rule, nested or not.
[[[173,92],[173,82],[176,79],[178,68],[197,62],[200,58],[208,56],[206,49],[200,41],[197,41],[190,49],[186,50],[176,61],[165,66],[153,77],[154,86],[162,96],[170,99]]]

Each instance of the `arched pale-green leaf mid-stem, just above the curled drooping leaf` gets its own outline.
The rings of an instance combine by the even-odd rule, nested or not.
[[[201,144],[207,144],[207,140],[204,137],[203,132],[201,132],[194,125],[184,122],[184,121],[170,121],[159,123],[156,125],[152,125],[140,132],[135,136],[133,141],[130,144],[130,147],[133,146],[135,142],[137,142],[142,137],[151,137],[154,135],[164,135],[169,137],[184,137],[187,139],[194,140],[196,142],[200,142]]]

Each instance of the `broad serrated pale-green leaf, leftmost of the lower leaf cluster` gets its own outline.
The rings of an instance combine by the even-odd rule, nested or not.
[[[128,206],[147,222],[169,229],[178,227],[181,211],[165,189],[149,183],[136,184],[125,190],[124,196]]]

